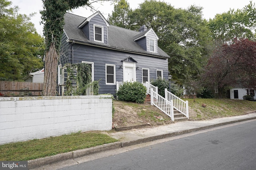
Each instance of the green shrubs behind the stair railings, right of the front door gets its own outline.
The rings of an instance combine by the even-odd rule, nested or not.
[[[180,88],[178,84],[171,83],[166,80],[166,79],[156,79],[156,80],[151,80],[150,84],[153,86],[158,87],[158,94],[164,97],[164,89],[167,88],[169,91],[170,87],[170,92],[176,96],[182,96],[183,94],[183,89]]]

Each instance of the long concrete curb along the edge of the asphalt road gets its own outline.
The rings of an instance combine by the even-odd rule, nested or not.
[[[34,160],[28,160],[28,169],[39,168],[41,166],[45,166],[45,165],[48,165],[48,164],[53,164],[53,163],[60,162],[60,161],[63,161],[63,160],[79,158],[79,157],[82,157],[82,156],[86,156],[88,154],[94,154],[94,153],[103,152],[103,151],[106,151],[106,150],[117,149],[117,148],[121,148],[121,147],[128,147],[130,145],[136,145],[136,144],[139,144],[139,143],[155,141],[155,140],[158,140],[158,139],[164,139],[164,138],[173,137],[173,136],[177,136],[177,135],[183,135],[183,134],[186,134],[186,133],[191,133],[191,132],[205,130],[205,129],[211,129],[211,128],[222,126],[222,125],[228,125],[228,124],[237,123],[237,122],[241,122],[241,121],[252,120],[252,119],[256,119],[256,117],[247,117],[247,118],[244,118],[244,119],[236,119],[236,120],[233,120],[233,121],[216,123],[216,124],[212,124],[212,125],[206,125],[206,126],[203,126],[203,127],[196,127],[196,128],[192,128],[192,129],[183,130],[183,131],[177,131],[177,132],[173,132],[173,133],[166,133],[166,134],[162,134],[162,135],[146,137],[146,138],[137,139],[137,140],[134,140],[134,141],[109,143],[109,144],[104,144],[104,145],[100,145],[100,146],[96,146],[96,147],[91,147],[91,148],[86,148],[86,149],[81,149],[81,150],[74,150],[72,152],[57,154],[57,155],[54,155],[54,156],[47,156],[45,158],[38,158],[38,159],[34,159]]]

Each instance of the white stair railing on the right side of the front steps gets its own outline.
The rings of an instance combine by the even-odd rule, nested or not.
[[[164,90],[164,94],[165,94],[166,100],[173,101],[174,109],[178,110],[180,113],[188,117],[188,100],[184,101],[181,98],[178,98],[171,92],[167,91],[167,89]]]

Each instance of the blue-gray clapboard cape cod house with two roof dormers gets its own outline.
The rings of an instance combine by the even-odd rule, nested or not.
[[[99,94],[116,93],[117,82],[150,82],[168,78],[168,58],[158,36],[145,25],[138,31],[110,25],[100,12],[88,18],[66,13],[58,66],[58,91],[63,94],[66,63],[87,63]]]

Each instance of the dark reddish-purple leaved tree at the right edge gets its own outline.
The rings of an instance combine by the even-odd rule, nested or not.
[[[208,61],[202,82],[212,90],[218,90],[219,98],[225,97],[230,86],[244,88],[256,86],[256,42],[235,39],[230,45],[220,46]]]

